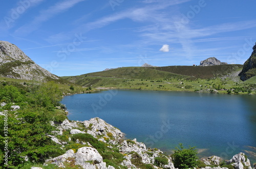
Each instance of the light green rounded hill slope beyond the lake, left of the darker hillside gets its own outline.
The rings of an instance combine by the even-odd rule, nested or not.
[[[118,85],[122,86],[124,85],[124,81],[127,81],[129,79],[158,80],[164,78],[178,79],[187,77],[189,76],[154,69],[147,69],[145,67],[123,67],[108,71],[82,74],[79,76],[67,76],[62,78],[81,86],[99,87]]]

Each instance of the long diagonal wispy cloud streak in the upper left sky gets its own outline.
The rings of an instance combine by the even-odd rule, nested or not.
[[[36,16],[30,23],[25,24],[17,29],[14,34],[18,36],[26,36],[31,32],[38,29],[43,22],[59,13],[65,12],[75,6],[76,4],[85,0],[66,0],[56,3],[54,6],[49,7],[47,10],[40,11],[40,15]]]

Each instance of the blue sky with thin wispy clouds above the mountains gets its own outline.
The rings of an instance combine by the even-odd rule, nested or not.
[[[243,64],[256,42],[255,0],[2,1],[0,40],[58,76],[105,68]]]

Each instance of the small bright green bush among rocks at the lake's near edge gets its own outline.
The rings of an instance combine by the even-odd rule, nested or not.
[[[193,168],[196,167],[198,162],[197,151],[195,147],[190,147],[184,149],[182,144],[179,144],[180,148],[176,147],[177,150],[174,150],[172,158],[174,159],[174,166],[177,168]]]

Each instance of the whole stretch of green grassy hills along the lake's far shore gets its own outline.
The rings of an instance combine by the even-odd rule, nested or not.
[[[63,78],[80,86],[101,89],[188,92],[216,89],[219,93],[227,93],[228,89],[242,87],[246,91],[247,89],[253,91],[256,87],[256,78],[242,82],[239,76],[233,76],[233,73],[242,70],[242,67],[243,65],[124,67]],[[240,93],[245,94],[245,92]]]

